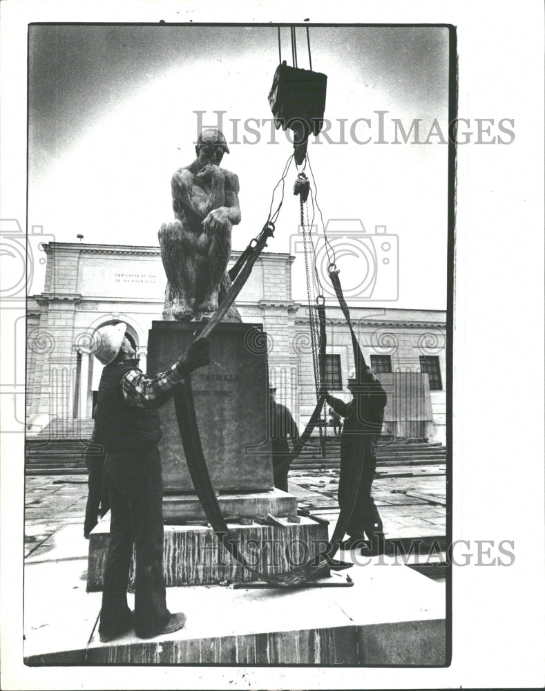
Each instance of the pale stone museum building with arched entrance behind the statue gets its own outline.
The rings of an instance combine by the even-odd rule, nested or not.
[[[162,319],[166,277],[159,247],[48,243],[44,292],[27,301],[26,428],[92,415],[102,365],[89,352],[93,332],[124,321],[146,371],[148,332]],[[232,252],[231,264],[240,256]],[[309,307],[291,297],[294,256],[263,252],[236,306],[267,334],[269,385],[303,430],[316,405]],[[326,379],[350,400],[350,330],[328,300]],[[446,442],[446,312],[350,307],[365,360],[388,392],[385,433]],[[254,332],[255,333],[255,332]],[[265,339],[261,339],[264,341]],[[264,343],[248,343],[261,348]],[[180,353],[181,354],[181,353]],[[152,376],[155,372],[148,372]]]

